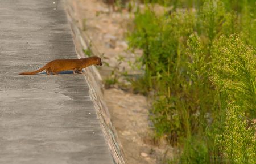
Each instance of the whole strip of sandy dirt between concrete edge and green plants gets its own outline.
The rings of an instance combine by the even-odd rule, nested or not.
[[[138,54],[126,51],[125,33],[133,14],[126,10],[109,13],[110,7],[102,1],[72,2],[79,28],[92,40],[97,55],[104,54],[104,62],[109,64],[100,69],[103,79],[109,77],[115,67],[131,71],[128,61],[134,61]],[[123,58],[123,61],[119,62],[119,58]],[[170,146],[165,143],[159,146],[152,142],[153,130],[148,119],[146,97],[118,88],[105,89],[104,95],[125,152],[126,163],[163,163],[165,156],[172,157]]]

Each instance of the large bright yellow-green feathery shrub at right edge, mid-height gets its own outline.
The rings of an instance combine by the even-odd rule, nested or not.
[[[255,50],[238,36],[220,37],[214,42],[213,82],[220,92],[228,92],[229,100],[236,100],[246,116],[256,117],[256,60]]]

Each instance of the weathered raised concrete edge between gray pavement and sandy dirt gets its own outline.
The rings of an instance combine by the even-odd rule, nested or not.
[[[67,12],[67,18],[73,32],[73,40],[75,42],[77,54],[79,55],[79,58],[84,58],[85,54],[83,50],[88,49],[90,46],[90,39],[89,37],[83,36],[80,29],[77,27],[76,20],[72,15],[74,13],[73,7],[68,0],[65,1],[65,11]],[[93,49],[92,53],[94,55],[99,55]],[[102,131],[104,132],[106,142],[109,145],[113,160],[115,163],[125,163],[125,159],[123,158],[125,154],[122,146],[120,146],[121,144],[119,144],[120,142],[118,140],[117,132],[112,126],[109,110],[104,101],[101,75],[94,66],[88,67],[84,69],[84,71],[85,79],[89,85],[90,97],[96,108],[97,116],[98,119],[100,119]]]

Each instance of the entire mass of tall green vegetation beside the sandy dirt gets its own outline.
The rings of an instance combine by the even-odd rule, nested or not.
[[[255,3],[150,2],[174,8],[135,14],[128,39],[143,50],[137,64],[144,74],[129,80],[154,95],[156,139],[166,136],[181,149],[180,163],[256,161],[249,124],[256,118]]]

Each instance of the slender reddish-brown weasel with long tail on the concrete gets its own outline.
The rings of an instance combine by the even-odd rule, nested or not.
[[[19,75],[35,75],[38,72],[46,70],[46,74],[58,75],[61,71],[72,70],[73,74],[82,73],[82,68],[91,66],[91,65],[102,65],[101,58],[99,57],[89,57],[81,59],[57,59],[47,63],[45,66],[39,70],[32,72],[22,72]]]

